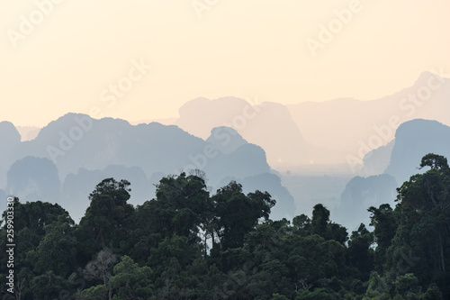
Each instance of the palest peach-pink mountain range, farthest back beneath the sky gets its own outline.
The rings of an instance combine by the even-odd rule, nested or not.
[[[348,171],[349,160],[361,168],[365,155],[392,141],[401,123],[423,118],[450,125],[449,99],[450,79],[423,72],[410,87],[371,101],[338,98],[251,105],[231,96],[201,97],[180,107],[178,119],[164,122],[202,139],[212,128],[233,127],[245,140],[265,149],[269,165],[279,170],[340,164]],[[365,168],[361,174],[379,171]]]

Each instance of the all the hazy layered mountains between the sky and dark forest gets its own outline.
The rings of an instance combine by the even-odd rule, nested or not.
[[[0,194],[62,201],[76,218],[105,177],[128,179],[139,204],[161,177],[198,168],[212,193],[230,180],[246,192],[267,190],[278,201],[274,219],[322,202],[357,226],[368,205],[394,205],[395,187],[419,172],[423,155],[450,157],[448,112],[450,80],[424,72],[412,86],[365,102],[196,98],[160,123],[66,114],[37,136],[36,128],[3,122]]]

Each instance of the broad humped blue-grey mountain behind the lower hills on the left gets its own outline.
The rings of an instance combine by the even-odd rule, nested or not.
[[[139,124],[112,118],[95,120],[85,114],[66,114],[24,141],[14,159],[36,156],[51,159],[59,177],[79,168],[103,169],[110,165],[139,166],[146,174],[171,173],[190,162],[188,153],[202,151],[204,141],[176,126]]]

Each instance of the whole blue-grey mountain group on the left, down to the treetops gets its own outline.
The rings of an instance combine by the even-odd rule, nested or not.
[[[89,193],[105,177],[129,180],[130,203],[141,204],[154,197],[154,185],[161,177],[195,168],[206,173],[208,186],[214,189],[221,187],[224,177],[235,177],[279,196],[280,207],[293,205],[280,178],[270,174],[265,150],[230,128],[215,128],[204,141],[175,125],[133,126],[120,119],[66,114],[42,128],[34,140],[21,142],[13,124],[3,126],[4,139],[10,141],[3,153],[11,155],[2,158],[4,166],[12,165],[5,192],[22,201],[58,202],[75,220],[84,214]]]

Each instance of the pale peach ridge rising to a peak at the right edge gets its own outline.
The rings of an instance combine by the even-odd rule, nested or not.
[[[371,101],[339,98],[321,103],[287,105],[308,144],[334,155],[334,163],[351,161],[361,167],[370,150],[386,145],[401,123],[431,119],[450,125],[450,80],[424,72],[410,87]],[[315,163],[330,163],[315,155]],[[327,159],[327,160],[324,160]]]

